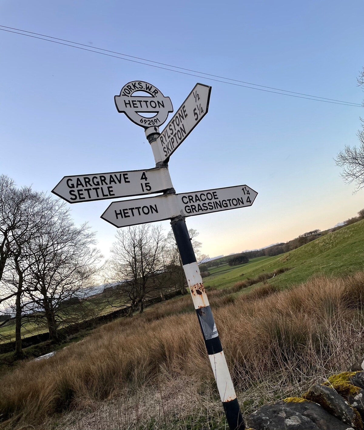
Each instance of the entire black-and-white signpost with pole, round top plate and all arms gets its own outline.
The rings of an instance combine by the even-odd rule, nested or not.
[[[147,96],[140,95],[147,93]],[[177,147],[207,114],[211,87],[197,83],[176,114],[160,133],[168,113],[173,111],[169,97],[144,81],[132,81],[116,95],[118,112],[145,129],[151,144],[155,169],[65,176],[52,190],[69,203],[112,199],[163,191],[163,195],[111,203],[101,218],[116,227],[170,219],[183,270],[197,313],[201,333],[219,390],[230,430],[245,428],[219,333],[204,289],[185,218],[210,212],[251,206],[257,192],[247,185],[176,194],[168,172],[168,160]],[[151,116],[143,116],[141,114]],[[154,115],[153,115],[154,114]]]

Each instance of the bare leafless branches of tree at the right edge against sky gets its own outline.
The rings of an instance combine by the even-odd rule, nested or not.
[[[358,85],[364,87],[364,67],[358,77]],[[364,106],[364,101],[363,101]],[[359,147],[345,145],[334,159],[336,166],[342,168],[341,176],[349,184],[354,183],[354,193],[364,187],[364,120],[361,120],[361,129],[358,130]]]

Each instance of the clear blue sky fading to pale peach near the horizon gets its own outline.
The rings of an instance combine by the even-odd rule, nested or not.
[[[361,103],[362,2],[8,1],[1,25],[260,85]],[[154,166],[143,129],[114,106],[145,80],[175,110],[196,82],[210,110],[170,160],[177,193],[247,184],[252,207],[190,217],[210,256],[333,227],[364,207],[333,157],[357,144],[362,108],[257,91],[1,31],[0,172],[52,190],[64,175]],[[107,254],[110,200],[71,205]],[[170,228],[163,222],[166,232]]]

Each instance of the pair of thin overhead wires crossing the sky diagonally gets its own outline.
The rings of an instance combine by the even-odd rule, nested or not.
[[[6,29],[8,29],[8,30],[6,30]],[[118,59],[124,60],[124,61],[131,61],[131,62],[138,63],[138,64],[144,64],[144,65],[149,66],[149,67],[159,68],[159,69],[163,69],[163,70],[167,70],[167,71],[171,71],[171,72],[175,72],[175,73],[180,73],[180,74],[195,76],[195,77],[199,77],[199,78],[203,78],[203,79],[213,80],[215,82],[221,82],[221,83],[225,83],[225,84],[229,84],[229,85],[240,86],[240,87],[250,88],[250,89],[256,89],[258,91],[271,92],[271,93],[275,93],[275,94],[288,95],[290,97],[305,98],[308,100],[322,101],[324,103],[343,104],[345,106],[362,107],[361,104],[353,103],[351,101],[343,101],[343,100],[336,100],[335,98],[319,97],[316,95],[310,95],[310,94],[305,94],[305,93],[301,93],[301,92],[288,91],[285,89],[279,89],[279,88],[274,88],[274,87],[270,87],[270,86],[245,82],[242,80],[232,79],[232,78],[223,77],[223,76],[219,76],[219,75],[195,71],[195,70],[188,69],[188,68],[174,66],[172,64],[166,64],[166,63],[162,63],[159,61],[148,60],[147,58],[141,58],[141,57],[136,57],[133,55],[123,54],[121,52],[111,51],[109,49],[97,48],[96,46],[89,46],[89,45],[86,45],[84,43],[74,42],[72,40],[60,39],[59,37],[48,36],[46,34],[34,33],[32,31],[22,30],[19,28],[7,27],[5,25],[0,25],[0,30],[7,31],[9,33],[20,34],[22,36],[32,37],[34,39],[45,40],[47,42],[57,43],[59,45],[70,46],[72,48],[82,49],[83,51],[94,52],[96,54],[106,55],[108,57],[118,58]],[[27,34],[25,34],[25,33],[27,33]],[[36,36],[34,36],[34,35],[36,35]],[[62,42],[57,42],[57,40],[60,40]],[[72,43],[72,45],[70,45],[70,43]],[[75,45],[80,45],[80,46],[75,46]],[[81,46],[87,46],[87,48],[82,48]],[[95,50],[95,49],[97,49],[97,50]],[[103,51],[103,52],[99,52],[99,51]],[[106,52],[109,52],[109,53],[107,54]],[[112,55],[112,54],[116,54],[116,55]],[[120,57],[119,55],[122,55],[122,57]],[[123,58],[123,57],[128,57],[128,58]],[[135,59],[132,60],[131,58],[135,58]],[[136,60],[141,60],[141,61],[136,61]],[[144,61],[148,61],[148,63],[154,63],[154,64],[148,64],[148,63],[145,63]],[[158,66],[155,64],[160,64],[160,65]],[[161,66],[166,66],[166,67],[161,67]],[[173,68],[173,69],[171,69],[171,68]],[[174,69],[179,69],[179,70],[174,70]],[[193,72],[193,73],[188,73],[188,72]],[[196,75],[195,73],[198,73],[199,75]],[[201,76],[201,75],[205,75],[205,76]],[[219,79],[214,79],[214,78],[219,78]],[[220,80],[220,79],[223,79],[223,80]],[[227,82],[227,81],[232,81],[232,82]],[[247,85],[241,85],[241,84],[247,84]],[[253,85],[253,86],[248,86],[248,85]],[[261,88],[255,88],[254,86],[255,87],[261,87]],[[276,90],[276,91],[272,91],[272,90]]]

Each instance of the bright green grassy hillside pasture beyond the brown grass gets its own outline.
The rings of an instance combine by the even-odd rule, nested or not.
[[[364,270],[364,220],[325,234],[300,248],[275,257],[253,258],[249,263],[230,267],[215,267],[204,278],[205,286],[231,286],[238,281],[254,278],[264,272],[291,267],[269,283],[286,288],[314,275],[345,276]]]

